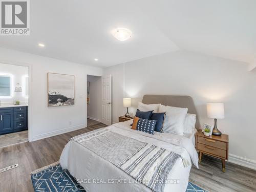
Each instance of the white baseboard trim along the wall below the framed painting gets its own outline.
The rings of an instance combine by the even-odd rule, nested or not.
[[[57,131],[53,131],[53,132],[33,136],[32,139],[29,140],[29,141],[31,142],[31,141],[37,141],[37,140],[40,140],[40,139],[45,139],[45,138],[60,135],[60,134],[63,134],[63,133],[68,133],[68,132],[72,132],[72,131],[75,131],[75,130],[79,130],[79,129],[82,129],[84,127],[86,127],[86,124],[71,126],[71,127],[65,128],[65,129],[61,129],[61,130],[57,130]]]

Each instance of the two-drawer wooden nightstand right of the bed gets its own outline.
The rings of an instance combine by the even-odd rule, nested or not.
[[[201,163],[202,155],[207,154],[220,158],[222,161],[222,171],[225,173],[225,160],[228,160],[228,135],[221,136],[205,136],[200,130],[197,134],[197,151],[199,151],[199,163]]]

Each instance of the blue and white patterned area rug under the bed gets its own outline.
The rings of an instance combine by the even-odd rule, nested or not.
[[[42,167],[31,173],[31,180],[36,192],[86,192],[76,182],[67,169],[62,169],[58,162]],[[186,192],[207,192],[193,183],[188,183]]]

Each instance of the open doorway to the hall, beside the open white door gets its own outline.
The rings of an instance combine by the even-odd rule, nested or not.
[[[102,121],[101,76],[87,75],[87,126]]]

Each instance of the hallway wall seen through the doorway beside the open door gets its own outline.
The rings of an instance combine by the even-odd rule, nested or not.
[[[90,104],[87,104],[88,118],[96,121],[102,119],[102,83],[101,77],[87,75],[87,81],[90,82]]]

